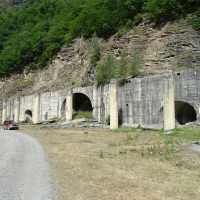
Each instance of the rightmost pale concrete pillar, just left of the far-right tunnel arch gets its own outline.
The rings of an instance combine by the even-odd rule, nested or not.
[[[175,126],[175,86],[171,74],[164,90],[164,131],[173,130]]]

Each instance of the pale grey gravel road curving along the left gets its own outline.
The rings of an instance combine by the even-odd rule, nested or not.
[[[0,130],[0,200],[54,200],[48,163],[32,137]]]

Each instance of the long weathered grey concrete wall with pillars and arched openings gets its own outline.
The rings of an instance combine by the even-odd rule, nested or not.
[[[176,73],[136,77],[120,82],[112,82],[97,87],[78,87],[30,96],[12,97],[3,101],[2,121],[25,119],[26,110],[33,112],[33,122],[42,122],[63,117],[72,119],[73,95],[86,96],[93,109],[93,119],[117,128],[118,122],[126,127],[143,127],[171,130],[175,127],[177,102],[190,105],[195,111],[195,123],[200,123],[200,70],[184,70]],[[83,103],[83,102],[82,102]],[[84,103],[83,103],[84,104]],[[177,108],[177,110],[176,110]],[[184,110],[184,109],[183,109]],[[19,111],[19,113],[17,113]],[[178,113],[178,115],[184,113]],[[190,114],[187,118],[190,118]],[[180,117],[180,116],[179,116]],[[180,121],[179,121],[180,122]],[[193,120],[187,121],[194,122]]]

